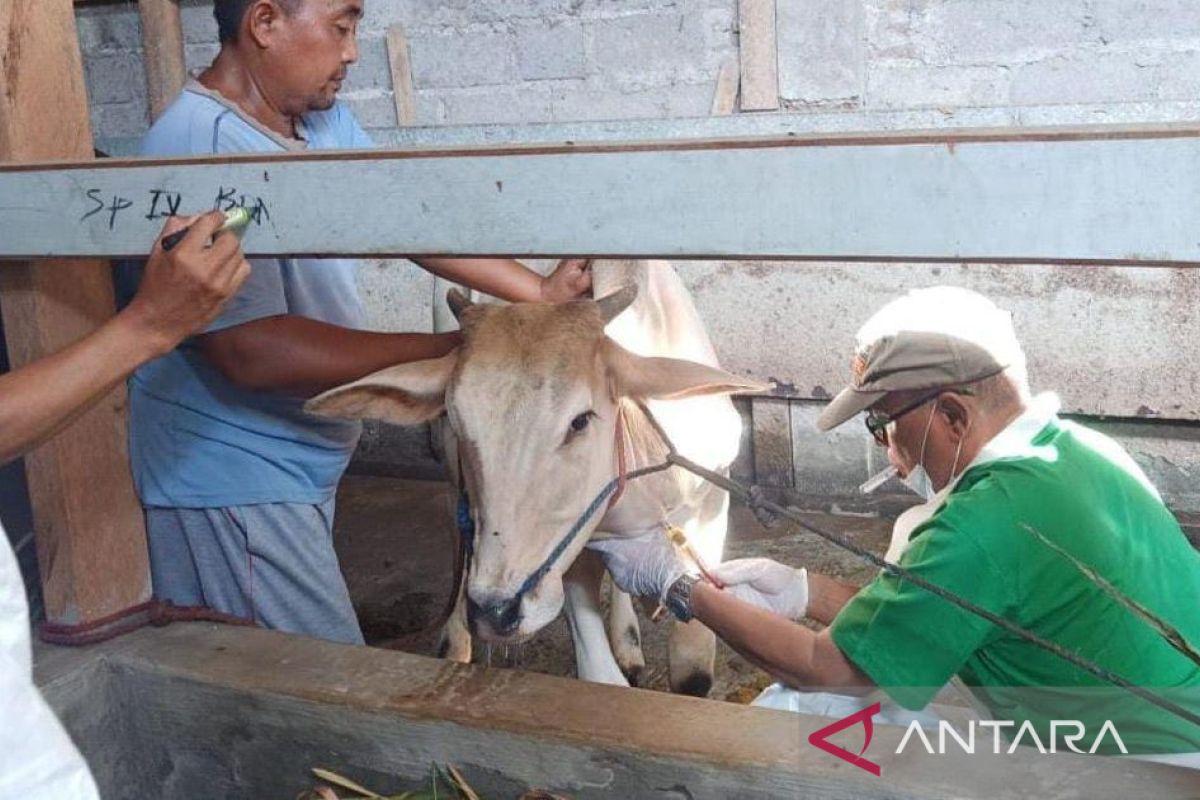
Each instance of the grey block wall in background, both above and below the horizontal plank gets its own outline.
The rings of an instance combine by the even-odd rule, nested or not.
[[[787,115],[792,130],[1200,119],[1200,5],[1190,0],[775,6],[780,109],[766,114]],[[182,12],[197,70],[217,49],[211,5],[184,0]],[[78,20],[96,136],[139,136],[149,120],[134,6],[85,6]],[[410,42],[419,132],[395,128],[384,46],[394,24]],[[535,124],[553,137],[556,125],[588,120],[707,116],[718,70],[738,47],[736,0],[367,0],[343,97],[382,140],[504,140]],[[396,267],[364,272],[373,323],[427,330],[432,281]],[[860,427],[817,434],[816,410],[844,381],[853,331],[875,307],[910,285],[954,283],[1014,308],[1034,387],[1058,391],[1068,410],[1117,435],[1174,507],[1200,512],[1192,272],[778,263],[682,271],[726,365],[786,390],[744,404],[744,477],[809,505],[860,505],[854,487],[880,453]],[[359,456],[371,469],[436,470],[422,434],[373,429]]]

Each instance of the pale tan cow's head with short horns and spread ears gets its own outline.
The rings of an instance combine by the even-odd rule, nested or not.
[[[382,369],[306,405],[314,414],[398,425],[446,411],[475,517],[467,601],[476,636],[520,640],[558,615],[563,571],[602,510],[536,585],[521,588],[614,477],[622,397],[761,389],[692,361],[635,355],[605,336],[605,325],[635,296],[626,287],[598,301],[492,306],[451,293],[462,347]]]

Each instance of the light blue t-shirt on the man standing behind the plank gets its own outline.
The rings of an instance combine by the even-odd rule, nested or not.
[[[190,82],[150,128],[142,155],[371,146],[341,103],[305,115],[299,133],[305,142],[278,137]],[[214,207],[226,204],[214,198]],[[365,326],[358,260],[251,259],[251,265],[250,278],[209,331],[278,314]],[[235,386],[191,339],[146,363],[130,379],[130,458],[143,505],[324,503],[346,470],[360,426],[305,414],[302,405],[300,397]]]

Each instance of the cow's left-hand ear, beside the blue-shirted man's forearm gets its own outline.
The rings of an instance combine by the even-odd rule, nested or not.
[[[457,363],[457,350],[440,359],[400,363],[330,389],[305,403],[304,409],[343,420],[383,420],[395,425],[425,422],[445,407],[446,384]]]

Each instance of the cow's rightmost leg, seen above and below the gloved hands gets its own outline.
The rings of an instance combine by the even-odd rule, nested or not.
[[[730,498],[715,488],[708,492],[700,512],[684,524],[688,541],[708,564],[720,564],[730,523]],[[707,697],[713,687],[716,637],[692,620],[676,622],[667,639],[667,678],[672,692]]]

